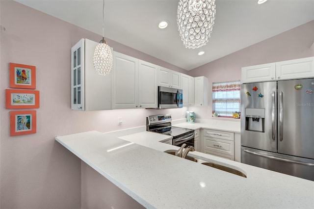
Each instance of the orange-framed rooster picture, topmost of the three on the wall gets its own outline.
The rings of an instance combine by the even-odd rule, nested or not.
[[[10,87],[35,89],[36,67],[10,63]]]

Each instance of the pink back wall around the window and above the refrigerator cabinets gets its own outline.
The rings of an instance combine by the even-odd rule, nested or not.
[[[254,44],[189,71],[209,79],[209,106],[190,107],[199,118],[210,118],[212,82],[241,79],[241,68],[270,62],[314,56],[314,21]]]

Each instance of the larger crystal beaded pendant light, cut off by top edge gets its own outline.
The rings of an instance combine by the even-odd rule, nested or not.
[[[180,0],[177,23],[183,44],[188,49],[203,47],[209,41],[215,21],[215,0]]]

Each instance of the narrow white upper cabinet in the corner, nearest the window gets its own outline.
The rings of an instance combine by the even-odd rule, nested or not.
[[[194,78],[194,105],[208,106],[208,78]]]

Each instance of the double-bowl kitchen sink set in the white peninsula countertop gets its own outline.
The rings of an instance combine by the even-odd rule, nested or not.
[[[176,151],[177,150],[166,150],[164,151],[164,153],[168,153],[170,155],[176,155]],[[203,165],[207,165],[209,167],[212,167],[212,168],[216,168],[216,169],[219,169],[219,170],[222,170],[222,171],[226,171],[226,172],[229,172],[229,173],[232,173],[232,174],[235,174],[235,175],[238,175],[238,176],[241,176],[241,177],[244,177],[246,178],[246,175],[241,172],[241,171],[238,171],[234,168],[230,168],[230,167],[227,167],[227,166],[224,166],[224,165],[220,165],[220,164],[217,164],[217,163],[213,163],[213,162],[209,162],[209,161],[206,161],[206,160],[203,160],[203,159],[198,159],[198,158],[195,158],[195,157],[191,157],[191,156],[186,156],[185,159],[188,159],[188,160],[191,160],[191,161],[194,161],[194,162],[199,162]]]

